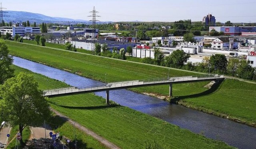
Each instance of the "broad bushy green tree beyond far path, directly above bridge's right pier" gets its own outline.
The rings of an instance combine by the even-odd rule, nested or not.
[[[181,68],[190,58],[183,50],[175,50],[165,59],[165,66]]]

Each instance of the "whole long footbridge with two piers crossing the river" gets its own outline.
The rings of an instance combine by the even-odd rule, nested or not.
[[[224,79],[223,75],[218,74],[206,74],[202,76],[182,76],[182,77],[172,77],[172,78],[154,78],[147,80],[133,80],[125,82],[113,82],[108,83],[105,86],[97,86],[91,88],[59,88],[54,90],[44,90],[44,96],[56,97],[56,96],[67,96],[72,94],[84,94],[90,92],[102,92],[106,91],[106,104],[109,104],[109,91],[110,90],[120,90],[126,88],[136,88],[143,86],[156,86],[156,85],[166,85],[169,84],[169,96],[172,96],[172,84],[177,83],[189,83],[189,82],[199,82],[199,81],[213,81]]]

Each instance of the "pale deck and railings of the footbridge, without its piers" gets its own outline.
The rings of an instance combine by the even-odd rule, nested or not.
[[[223,78],[223,76],[218,74],[205,74],[200,76],[180,76],[180,77],[171,77],[171,78],[151,78],[151,79],[143,79],[143,80],[133,80],[133,81],[124,81],[124,82],[113,82],[108,83],[106,86],[97,86],[91,88],[60,88],[54,90],[46,90],[44,91],[44,96],[47,95],[56,95],[56,94],[65,94],[72,92],[82,92],[82,91],[92,91],[92,90],[100,90],[106,88],[116,88],[116,87],[124,87],[124,86],[136,86],[143,84],[156,84],[156,83],[164,83],[164,82],[180,82],[180,81],[190,81],[190,80],[202,80],[202,79],[212,79],[212,78]]]

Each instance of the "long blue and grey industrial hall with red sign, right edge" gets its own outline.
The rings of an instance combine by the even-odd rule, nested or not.
[[[256,32],[255,26],[210,26],[209,31],[212,29],[223,32],[226,35],[242,35],[245,32]]]

